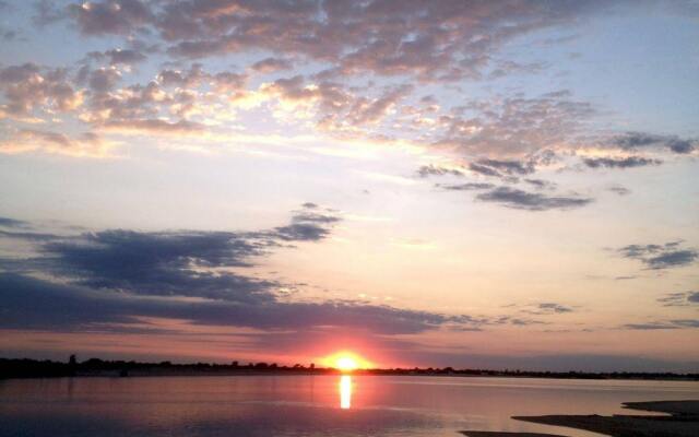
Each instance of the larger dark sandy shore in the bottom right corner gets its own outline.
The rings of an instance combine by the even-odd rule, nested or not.
[[[667,413],[666,416],[642,415],[546,415],[513,416],[518,421],[567,426],[606,434],[613,437],[697,437],[699,436],[698,401],[626,402],[627,409]],[[505,435],[505,434],[502,434]],[[473,436],[473,434],[469,434]],[[482,435],[485,436],[485,435]]]

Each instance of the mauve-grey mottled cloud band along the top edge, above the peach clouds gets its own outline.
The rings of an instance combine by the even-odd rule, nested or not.
[[[126,34],[143,25],[171,42],[170,52],[210,57],[264,50],[294,54],[333,66],[336,74],[413,74],[422,80],[478,76],[489,54],[534,29],[571,23],[600,9],[580,3],[516,9],[496,3],[340,4],[295,1],[247,5],[226,2],[167,3],[149,11],[115,11],[108,3],[76,10],[83,33]],[[99,14],[97,14],[99,12]],[[388,14],[392,17],[387,20]],[[100,26],[87,21],[104,20]],[[128,20],[130,19],[130,20]],[[500,62],[496,71],[534,66]]]

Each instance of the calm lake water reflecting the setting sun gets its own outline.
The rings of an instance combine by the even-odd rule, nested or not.
[[[511,415],[628,413],[699,398],[697,382],[388,376],[61,378],[0,381],[1,436],[459,436],[548,432]]]

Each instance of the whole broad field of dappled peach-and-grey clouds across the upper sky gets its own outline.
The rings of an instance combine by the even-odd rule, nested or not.
[[[576,140],[590,135],[587,121],[596,115],[593,106],[573,98],[568,90],[466,98],[463,105],[453,106],[434,96],[418,98],[417,93],[424,94],[420,83],[445,85],[488,74],[538,71],[540,63],[519,63],[496,54],[532,32],[568,25],[608,9],[638,8],[635,2],[516,3],[442,1],[389,7],[382,0],[355,4],[96,0],[57,8],[40,2],[37,21],[64,17],[83,35],[122,38],[123,48],[90,52],[90,62],[81,61],[84,70],[72,82],[61,79],[66,95],[60,98],[28,84],[25,92],[14,93],[16,98],[7,98],[14,94],[5,91],[3,113],[17,117],[43,109],[42,120],[47,121],[58,108],[72,113],[75,121],[88,123],[94,131],[179,135],[225,131],[230,127],[226,121],[253,106],[280,123],[315,128],[342,139],[453,150],[470,160],[471,172],[512,181],[536,170],[540,163],[531,156],[542,151],[569,152],[576,149]],[[145,72],[127,76],[130,66],[146,60],[149,49],[140,38],[163,46],[161,54],[167,58],[163,64],[168,67],[150,72],[151,79]],[[115,47],[114,37],[106,40],[107,47]],[[181,59],[226,54],[240,55],[236,59],[247,64],[238,72],[211,73],[204,71],[204,63],[192,63],[187,70],[190,60]],[[93,70],[92,61],[102,63]],[[279,76],[300,62],[308,67],[303,76]],[[43,83],[48,83],[49,70],[35,72]],[[261,78],[271,74],[274,76]],[[377,75],[393,78],[376,80]],[[121,82],[128,85],[119,86]],[[81,86],[85,87],[79,90]],[[45,98],[31,98],[43,94]],[[212,137],[202,143],[217,141]],[[662,142],[676,152],[688,151],[695,141],[633,132],[607,140],[624,147]],[[621,167],[638,163],[596,164]],[[455,172],[452,169],[453,175]]]

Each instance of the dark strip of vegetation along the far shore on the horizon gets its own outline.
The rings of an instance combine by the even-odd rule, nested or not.
[[[0,379],[7,378],[51,378],[70,376],[215,376],[215,375],[336,375],[340,370],[328,367],[280,366],[276,363],[175,364],[170,362],[138,363],[134,361],[104,361],[90,358],[79,362],[74,355],[66,363],[37,359],[0,358]],[[699,374],[673,373],[584,373],[584,371],[530,371],[445,368],[388,368],[362,369],[354,375],[425,375],[425,376],[486,376],[558,379],[655,379],[655,380],[699,380]]]

